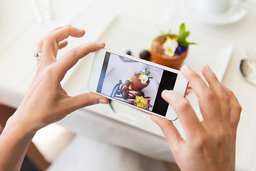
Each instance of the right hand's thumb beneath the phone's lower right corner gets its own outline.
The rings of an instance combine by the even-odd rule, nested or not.
[[[162,133],[164,133],[164,136],[169,143],[169,146],[171,147],[171,150],[183,141],[183,138],[180,136],[179,131],[177,128],[175,128],[172,121],[166,120],[156,115],[152,115],[151,119],[154,121],[154,123],[159,125],[159,128],[161,128]]]

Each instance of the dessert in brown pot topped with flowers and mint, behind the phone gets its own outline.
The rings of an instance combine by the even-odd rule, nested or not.
[[[169,32],[154,38],[151,46],[151,56],[154,62],[179,70],[187,57],[189,44],[195,44],[186,41],[188,36],[189,31],[185,30],[183,23],[179,27],[178,35]]]

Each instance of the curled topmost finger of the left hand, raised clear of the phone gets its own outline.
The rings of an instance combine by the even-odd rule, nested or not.
[[[84,36],[84,30],[67,26],[50,33],[44,39],[44,44],[42,47],[42,55],[44,58],[42,59],[45,61],[56,61],[56,54],[59,50],[59,42],[63,41],[65,38],[68,38],[69,36],[77,38],[82,37]]]

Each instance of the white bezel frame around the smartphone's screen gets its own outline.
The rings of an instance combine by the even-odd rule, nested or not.
[[[166,66],[161,66],[161,65],[159,65],[157,63],[152,63],[152,62],[149,62],[149,61],[145,61],[145,60],[143,60],[141,58],[135,58],[135,57],[129,56],[127,54],[117,53],[117,52],[111,51],[111,50],[109,50],[107,48],[100,49],[94,55],[94,61],[93,61],[93,64],[92,64],[92,70],[91,70],[91,73],[90,73],[90,76],[89,76],[89,83],[88,83],[88,88],[93,93],[97,93],[99,95],[103,95],[103,94],[97,92],[97,86],[98,86],[98,83],[99,83],[99,76],[100,76],[100,73],[102,71],[102,65],[103,65],[103,62],[104,62],[105,53],[107,51],[109,53],[115,53],[115,54],[117,54],[119,56],[124,56],[126,58],[133,59],[134,61],[139,61],[139,62],[142,62],[142,63],[146,63],[146,64],[148,64],[150,66],[155,66],[155,67],[158,67],[158,68],[162,68],[162,69],[164,69],[166,71],[177,73],[177,79],[176,79],[176,82],[174,84],[174,89],[173,90],[177,91],[182,96],[184,96],[184,94],[186,93],[188,82],[187,82],[187,79],[184,78],[184,76],[182,75],[182,73],[180,71],[175,70],[173,68],[168,68]],[[106,97],[106,98],[112,99],[112,100],[117,100],[115,98],[109,97],[108,95],[103,95],[103,96]],[[174,112],[173,108],[170,105],[167,108],[166,115],[163,116],[163,115],[159,115],[157,113],[153,113],[152,111],[145,110],[143,108],[139,108],[136,105],[131,105],[129,103],[125,103],[122,100],[117,100],[117,101],[120,102],[120,103],[123,103],[125,105],[132,106],[133,108],[137,108],[139,110],[142,110],[142,111],[144,111],[146,113],[150,113],[150,114],[153,114],[153,115],[158,115],[158,116],[160,116],[162,118],[167,118],[168,120],[176,120],[177,119],[177,115],[176,115],[176,113]]]

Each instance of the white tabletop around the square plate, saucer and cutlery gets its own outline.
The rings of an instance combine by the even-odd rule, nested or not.
[[[222,82],[234,91],[243,107],[237,132],[236,165],[237,170],[256,170],[256,87],[245,82],[238,69],[240,59],[245,58],[245,50],[250,46],[256,47],[255,8],[255,5],[248,6],[247,16],[235,24],[212,26],[187,16],[181,2],[174,0],[55,0],[55,19],[44,20],[40,25],[36,22],[30,1],[0,1],[0,103],[15,108],[19,106],[34,76],[36,60],[32,56],[36,50],[36,42],[56,26],[72,24],[86,30],[84,38],[72,38],[69,41],[68,48],[71,48],[104,37],[104,30],[112,24],[114,17],[120,15],[151,21],[161,28],[177,27],[184,22],[191,33],[205,33],[233,44],[233,53]],[[59,55],[65,51],[67,50],[61,50]],[[92,55],[84,58],[77,68],[68,73],[63,85],[70,95],[88,91],[87,80],[91,63]],[[117,113],[113,113],[109,105],[94,105],[77,110],[59,124],[75,133],[126,147],[159,160],[174,162],[167,142],[157,125],[149,119],[149,115],[119,103],[113,105]],[[180,127],[179,121],[175,124]]]

